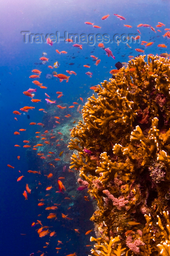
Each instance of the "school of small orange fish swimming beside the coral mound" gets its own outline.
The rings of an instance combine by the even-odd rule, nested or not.
[[[102,18],[99,17],[99,20],[106,20],[106,19],[110,19],[111,14],[107,14],[105,16],[103,16]],[[114,14],[115,19],[118,18],[120,20],[126,20],[126,18],[124,18],[121,15],[118,14]],[[105,22],[105,21],[102,21]],[[101,22],[100,22],[101,23]],[[92,30],[93,29],[101,29],[101,26],[96,25],[95,23],[92,22],[84,22],[84,24],[86,25],[91,25]],[[86,26],[84,25],[84,26]],[[127,25],[127,24],[123,24],[122,23],[122,27],[127,27],[127,29],[132,29],[131,25]],[[136,27],[136,30],[138,32],[139,35],[137,35],[137,37],[134,38],[134,40],[137,40],[139,38],[142,38],[142,30],[140,31],[140,29],[146,28],[149,29],[150,32],[155,33],[155,34],[160,34],[163,33],[163,31],[165,31],[161,35],[161,42],[162,44],[158,44],[157,47],[158,49],[160,48],[167,48],[167,46],[165,44],[163,44],[163,40],[165,38],[170,39],[170,29],[165,27],[166,25],[163,24],[162,22],[158,22],[158,24],[155,25],[155,28],[152,27],[149,24],[139,24]],[[160,30],[162,29],[162,30]],[[143,41],[141,41],[141,48],[134,48],[132,49],[132,46],[130,46],[129,44],[126,44],[128,48],[130,48],[130,53],[129,56],[127,56],[127,58],[129,57],[129,59],[132,59],[134,56],[131,55],[132,50],[135,50],[136,52],[139,52],[141,54],[144,54],[145,49],[147,49],[148,47],[154,45],[155,40],[154,36],[150,38],[150,40],[152,40],[152,42],[148,42],[148,41],[144,41],[145,38],[142,38]],[[83,45],[82,44],[74,44],[74,42],[72,41],[71,38],[66,39],[67,42],[70,43],[70,52],[72,50],[72,47],[78,48],[78,50],[80,50],[79,54],[81,54],[81,52],[83,52]],[[53,44],[52,40],[49,38],[47,38],[47,44],[50,46],[52,46],[53,48],[55,48],[55,44]],[[117,44],[119,46],[119,44]],[[99,43],[98,47],[101,48],[101,56],[102,56],[102,50],[104,50],[106,52],[106,55],[108,57],[111,57],[113,59],[113,61],[115,60],[115,56],[114,53],[112,52],[112,50],[110,49],[110,47],[105,47],[103,43]],[[54,49],[54,53],[55,54],[67,54],[67,52],[63,49]],[[134,52],[135,53],[135,52]],[[98,65],[103,65],[102,63],[102,58],[99,59],[99,56],[95,56],[95,55],[90,55],[91,53],[89,53],[89,60],[90,60],[90,64],[89,63],[82,63],[82,67],[84,67],[84,73],[91,78],[93,75],[93,62],[95,62],[94,64],[96,66]],[[95,54],[95,53],[94,53]],[[151,53],[150,53],[151,54]],[[41,61],[43,61],[44,64],[46,64],[47,62],[50,64],[47,66],[47,69],[59,69],[59,63],[58,61],[56,61],[54,64],[52,63],[52,61],[50,61],[50,58],[45,57],[47,55],[47,53],[43,53],[43,56],[39,57],[39,59]],[[170,57],[169,53],[161,53],[159,54],[159,56],[161,57]],[[62,64],[61,64],[62,65]],[[94,66],[95,67],[95,66]],[[88,70],[88,71],[87,71]],[[87,71],[87,72],[86,72]],[[130,70],[130,72],[133,72],[134,70]],[[118,69],[111,69],[110,71],[111,75],[117,74],[120,71]],[[44,108],[41,108],[41,102],[46,102],[47,104],[54,104],[56,106],[56,109],[58,109],[58,113],[55,117],[54,117],[54,121],[55,121],[55,125],[54,127],[56,127],[56,125],[60,125],[63,123],[63,118],[73,118],[73,124],[76,123],[76,121],[74,120],[74,111],[77,111],[79,113],[80,112],[80,108],[81,108],[81,103],[83,103],[83,98],[79,97],[79,99],[75,99],[75,101],[72,103],[72,105],[66,105],[66,104],[58,104],[58,99],[63,97],[63,93],[62,91],[56,91],[56,97],[55,98],[51,98],[50,99],[50,95],[48,95],[48,88],[46,86],[43,85],[43,83],[41,83],[41,71],[39,69],[32,69],[30,71],[30,80],[31,82],[36,86],[36,88],[25,88],[24,87],[24,91],[23,94],[25,95],[25,97],[28,97],[30,99],[30,106],[21,106],[21,108],[19,110],[13,110],[13,114],[15,115],[15,120],[19,121],[21,124],[21,119],[20,116],[22,116],[22,113],[28,114],[31,111],[34,111],[35,109],[39,109],[39,111],[47,113],[47,110]],[[57,73],[56,71],[52,72],[53,76],[56,78],[56,80],[58,80],[59,82],[65,82],[69,83],[69,81],[72,79],[72,75],[77,75],[75,71],[72,70],[66,70],[66,72],[64,74],[61,73]],[[68,74],[68,75],[67,75]],[[91,86],[90,89],[91,90],[95,90],[97,87],[96,86]],[[46,89],[46,93],[44,93],[44,98],[43,99],[37,99],[36,98],[36,93],[37,90],[44,90]],[[49,93],[50,94],[50,93]],[[77,102],[78,101],[78,102]],[[77,110],[75,106],[78,105]],[[63,109],[67,111],[67,114],[65,114],[63,116]],[[73,110],[74,111],[73,111]],[[65,113],[65,112],[64,112]],[[71,200],[71,197],[67,197],[66,193],[67,193],[67,187],[65,187],[64,185],[64,181],[67,179],[67,172],[73,172],[71,170],[67,170],[66,166],[63,166],[63,177],[58,177],[58,180],[56,180],[56,185],[51,185],[50,184],[50,179],[54,176],[54,171],[52,170],[57,168],[58,165],[58,161],[60,161],[62,155],[64,154],[64,150],[63,150],[63,145],[67,146],[67,144],[64,144],[64,141],[62,139],[62,132],[58,132],[58,134],[56,135],[54,133],[54,130],[47,130],[44,126],[43,123],[39,123],[36,120],[31,120],[31,122],[29,123],[30,128],[31,126],[36,126],[37,127],[37,131],[35,132],[35,140],[37,139],[38,143],[32,143],[30,142],[29,138],[27,138],[27,129],[25,129],[22,125],[20,125],[20,129],[18,131],[13,131],[14,135],[20,135],[21,133],[25,133],[25,140],[20,141],[19,140],[19,136],[17,136],[18,138],[18,144],[15,144],[14,146],[17,147],[23,147],[23,148],[29,148],[29,150],[37,150],[37,157],[39,157],[40,159],[42,159],[42,161],[46,161],[49,159],[51,159],[50,163],[49,163],[49,172],[46,174],[43,173],[42,170],[27,170],[27,173],[29,173],[30,175],[35,175],[35,185],[33,184],[28,184],[28,181],[26,180],[27,177],[27,173],[23,173],[20,170],[18,171],[18,177],[16,179],[16,181],[22,185],[23,187],[23,197],[25,200],[29,200],[29,197],[31,197],[32,192],[34,191],[34,193],[36,193],[36,189],[41,186],[41,182],[39,181],[37,183],[37,180],[39,180],[40,176],[44,176],[44,178],[46,178],[47,184],[46,188],[44,188],[44,193],[46,193],[45,197],[42,197],[40,199],[38,199],[37,202],[37,207],[39,207],[39,209],[43,209],[42,211],[47,211],[48,212],[48,216],[47,219],[50,219],[50,226],[46,225],[46,223],[42,223],[41,221],[41,216],[43,214],[43,212],[41,212],[38,215],[38,218],[35,216],[35,221],[30,223],[31,227],[35,227],[35,231],[37,232],[37,236],[39,236],[40,238],[42,237],[46,237],[47,240],[43,246],[43,248],[41,248],[37,253],[39,253],[40,256],[46,256],[48,253],[48,246],[50,246],[50,241],[52,239],[52,237],[57,236],[57,230],[55,230],[55,223],[58,221],[58,218],[63,218],[65,220],[65,222],[67,221],[72,221],[72,226],[73,226],[73,230],[79,235],[79,229],[76,229],[76,226],[74,226],[74,219],[71,216],[71,207],[68,207],[68,211],[67,212],[62,212],[60,211],[60,206],[62,204],[62,202],[58,202],[58,203],[54,203],[53,199],[51,197],[51,191],[55,191],[55,193],[61,193],[63,195],[63,200],[69,201]],[[70,129],[71,130],[71,129]],[[69,132],[69,131],[68,131]],[[41,143],[39,143],[41,141]],[[48,147],[48,154],[46,154],[45,152],[43,152],[43,150],[40,150],[41,147],[46,146],[46,148]],[[62,148],[61,152],[56,155],[55,152],[51,151],[51,147],[60,147]],[[84,151],[85,152],[85,151]],[[20,160],[20,156],[17,155],[16,156],[18,160]],[[13,166],[12,163],[8,163],[7,166],[9,168],[12,169],[17,169],[17,166]],[[23,185],[25,184],[25,185]],[[80,186],[77,190],[81,191],[83,189],[87,188],[86,186]],[[73,196],[72,196],[73,197]],[[88,196],[84,196],[84,200],[89,201]],[[130,223],[129,223],[130,224]],[[137,223],[138,224],[138,223]],[[67,225],[67,224],[66,224]],[[133,225],[133,223],[131,224]],[[84,231],[85,235],[90,234],[93,231],[93,229],[88,230],[88,231]],[[21,234],[21,235],[25,235],[25,234]],[[64,244],[62,241],[59,240],[60,238],[57,238],[57,242],[56,242],[56,253],[60,254],[60,250],[63,249]],[[86,245],[86,247],[91,246],[91,245]],[[75,248],[76,251],[76,248]],[[66,255],[67,252],[65,252],[64,255]],[[31,253],[30,256],[35,255],[35,253]],[[61,255],[61,254],[60,254]],[[70,252],[70,254],[67,254],[66,256],[78,256],[76,254],[76,252]],[[79,255],[80,256],[80,255]]]

